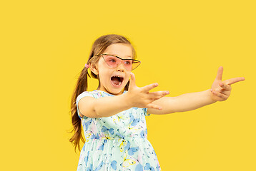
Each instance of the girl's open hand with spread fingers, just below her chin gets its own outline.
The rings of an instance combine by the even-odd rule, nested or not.
[[[162,107],[159,105],[154,105],[152,102],[159,98],[164,97],[164,95],[169,94],[169,91],[156,91],[149,93],[149,90],[157,87],[157,83],[152,83],[142,88],[139,88],[135,84],[135,75],[131,73],[131,80],[129,83],[129,88],[127,91],[128,102],[132,105],[132,107],[137,108],[154,108],[161,110]]]

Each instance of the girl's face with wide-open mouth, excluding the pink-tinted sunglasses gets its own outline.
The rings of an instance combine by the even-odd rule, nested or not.
[[[124,43],[112,44],[103,53],[119,56],[123,59],[132,59],[132,48]],[[100,85],[97,90],[103,90],[112,95],[122,94],[122,90],[127,85],[131,73],[124,67],[124,63],[121,63],[117,68],[110,68],[102,56],[100,56],[95,68],[91,68],[91,71],[97,74],[99,78]],[[119,83],[121,84],[119,85]]]

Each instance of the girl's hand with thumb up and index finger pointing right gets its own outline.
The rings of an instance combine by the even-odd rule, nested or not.
[[[244,81],[244,77],[230,78],[228,80],[222,81],[223,67],[220,66],[217,72],[215,81],[212,83],[211,98],[215,101],[224,101],[230,97],[231,84],[237,83],[239,81]]]

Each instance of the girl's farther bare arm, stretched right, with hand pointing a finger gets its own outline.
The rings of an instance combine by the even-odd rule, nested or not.
[[[244,77],[231,78],[222,81],[223,67],[220,66],[212,88],[195,93],[186,93],[177,97],[163,97],[154,100],[154,104],[162,107],[162,110],[148,108],[150,114],[169,114],[175,112],[185,112],[195,110],[205,105],[210,105],[217,101],[224,101],[229,98],[231,93],[231,84],[244,81]]]

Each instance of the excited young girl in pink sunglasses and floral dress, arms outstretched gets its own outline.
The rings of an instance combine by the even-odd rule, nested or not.
[[[132,44],[124,36],[109,34],[97,38],[72,95],[70,142],[79,148],[82,127],[86,142],[77,170],[161,170],[157,155],[147,140],[145,116],[194,110],[227,100],[231,84],[245,78],[222,81],[220,67],[212,89],[164,97],[169,91],[150,92],[157,83],[139,88],[132,70],[136,59]],[[87,76],[97,78],[97,90],[87,91]],[[129,78],[130,81],[129,81]],[[72,131],[73,131],[72,130]]]

